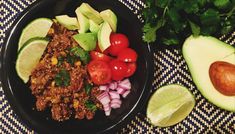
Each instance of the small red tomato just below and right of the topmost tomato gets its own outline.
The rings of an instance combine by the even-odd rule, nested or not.
[[[118,60],[124,62],[135,62],[137,60],[137,53],[131,48],[125,48],[118,54]]]

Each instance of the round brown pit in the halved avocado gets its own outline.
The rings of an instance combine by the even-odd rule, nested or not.
[[[235,96],[235,64],[216,61],[211,64],[209,75],[215,89],[224,95]]]

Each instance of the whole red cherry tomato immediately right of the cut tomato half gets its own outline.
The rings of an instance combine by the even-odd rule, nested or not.
[[[125,77],[127,72],[126,63],[115,59],[109,63],[109,66],[111,68],[113,80],[122,80]]]

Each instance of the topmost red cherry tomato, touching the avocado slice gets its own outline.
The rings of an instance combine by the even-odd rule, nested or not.
[[[124,48],[129,46],[129,40],[124,34],[112,33],[110,35],[111,46],[108,48],[109,54],[117,56]]]

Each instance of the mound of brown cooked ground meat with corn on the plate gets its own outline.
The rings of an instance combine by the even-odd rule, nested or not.
[[[30,77],[37,110],[51,108],[52,118],[57,121],[72,116],[92,119],[95,111],[102,109],[96,99],[101,91],[92,84],[86,65],[70,52],[73,47],[79,47],[72,38],[74,34],[77,32],[53,23],[48,32],[51,41]],[[93,85],[89,93],[85,89],[87,84]],[[87,106],[88,102],[93,109]]]

